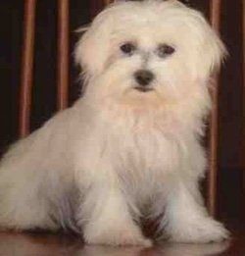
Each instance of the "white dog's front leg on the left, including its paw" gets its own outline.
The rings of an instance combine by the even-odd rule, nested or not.
[[[110,175],[98,174],[80,205],[77,219],[83,227],[85,241],[89,244],[150,246],[151,241],[143,236],[132,219],[118,181]]]

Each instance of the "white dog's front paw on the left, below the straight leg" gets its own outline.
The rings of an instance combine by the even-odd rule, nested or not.
[[[108,229],[97,230],[87,227],[84,230],[84,239],[88,244],[106,244],[112,246],[135,245],[150,247],[152,241],[143,236],[136,227],[108,227]]]

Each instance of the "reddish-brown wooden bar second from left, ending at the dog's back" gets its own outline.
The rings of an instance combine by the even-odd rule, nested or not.
[[[69,102],[69,6],[69,0],[58,0],[58,110],[67,108]]]

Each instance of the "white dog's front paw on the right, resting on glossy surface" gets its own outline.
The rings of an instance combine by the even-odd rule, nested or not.
[[[221,223],[206,218],[198,222],[186,222],[169,230],[172,241],[185,243],[220,242],[229,238],[229,231]]]

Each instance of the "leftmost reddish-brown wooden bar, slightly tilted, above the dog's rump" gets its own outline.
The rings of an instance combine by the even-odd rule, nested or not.
[[[19,135],[24,137],[29,132],[31,107],[31,89],[33,80],[34,28],[36,0],[25,0],[24,42],[22,61],[22,80],[20,91]]]

